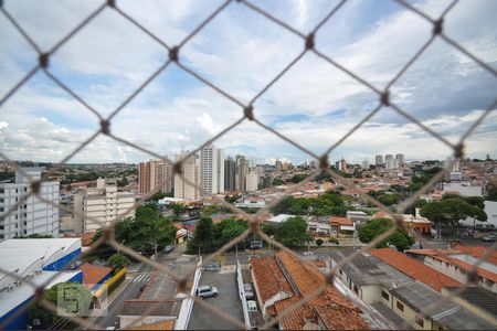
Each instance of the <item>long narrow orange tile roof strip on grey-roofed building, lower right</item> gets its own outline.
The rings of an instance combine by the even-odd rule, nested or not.
[[[370,249],[372,256],[378,257],[382,261],[389,264],[405,275],[430,286],[436,291],[442,291],[443,287],[462,287],[463,284],[442,273],[438,273],[423,263],[406,256],[393,248]]]

